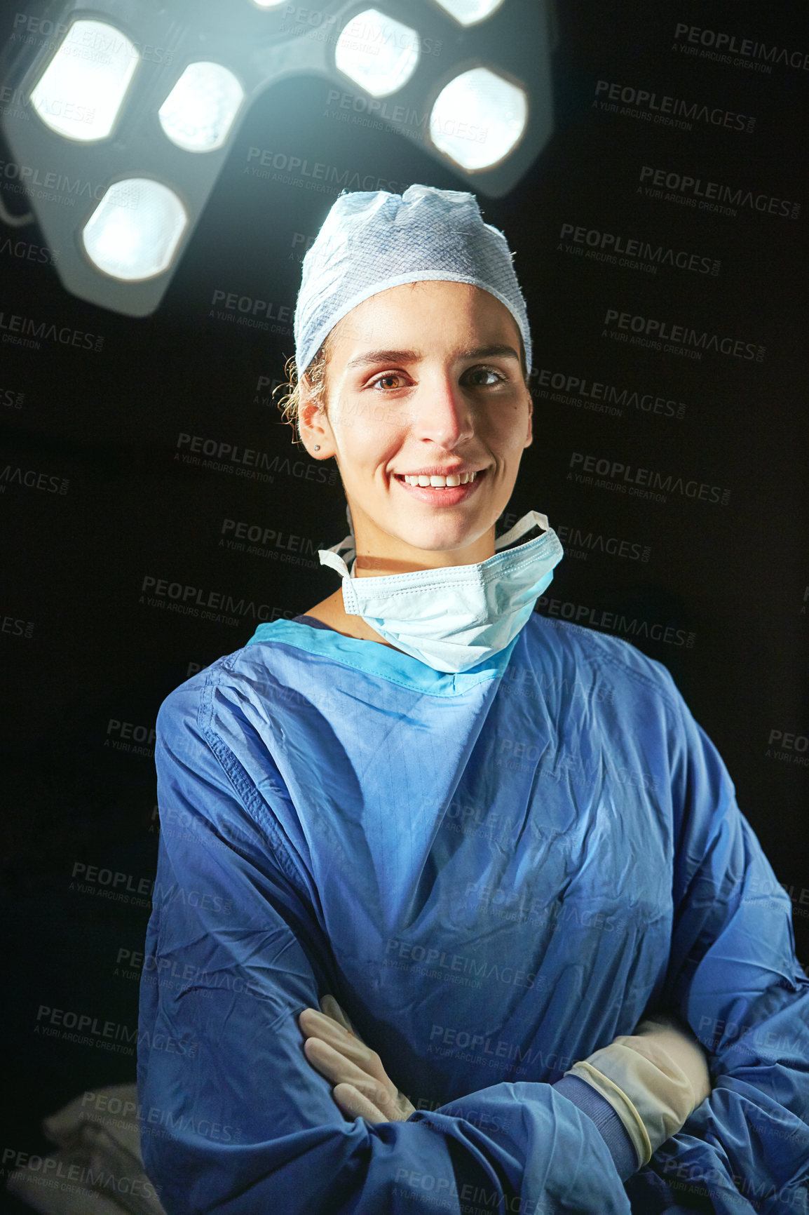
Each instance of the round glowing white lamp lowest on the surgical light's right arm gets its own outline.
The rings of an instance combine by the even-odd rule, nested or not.
[[[441,90],[430,114],[430,139],[468,173],[490,169],[511,152],[525,131],[528,102],[522,89],[488,68],[473,68]]]

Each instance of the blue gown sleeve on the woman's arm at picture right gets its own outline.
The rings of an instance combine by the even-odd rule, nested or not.
[[[809,1213],[809,979],[780,886],[711,740],[679,714],[669,1002],[709,1052],[712,1094],[627,1185],[639,1211]]]

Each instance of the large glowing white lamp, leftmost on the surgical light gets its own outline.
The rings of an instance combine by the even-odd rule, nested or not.
[[[30,103],[57,135],[89,143],[109,135],[140,56],[103,21],[74,21],[34,86]]]

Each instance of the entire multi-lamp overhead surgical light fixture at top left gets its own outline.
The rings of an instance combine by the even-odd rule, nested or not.
[[[60,252],[64,288],[148,316],[272,85],[309,78],[322,113],[350,108],[392,129],[440,163],[441,179],[428,164],[422,181],[443,185],[449,170],[459,190],[507,194],[553,131],[553,4],[47,0],[46,21],[12,18],[41,40],[0,49],[0,85],[23,98],[0,107],[7,169],[30,179],[29,211]],[[272,131],[275,151],[309,154],[294,113],[276,108]],[[350,180],[370,177],[372,154],[358,140]],[[70,205],[36,188],[40,176]]]

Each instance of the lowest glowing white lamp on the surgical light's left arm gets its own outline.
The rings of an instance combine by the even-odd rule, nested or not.
[[[81,239],[104,275],[137,282],[169,267],[186,230],[186,209],[151,177],[114,182],[87,220]]]

